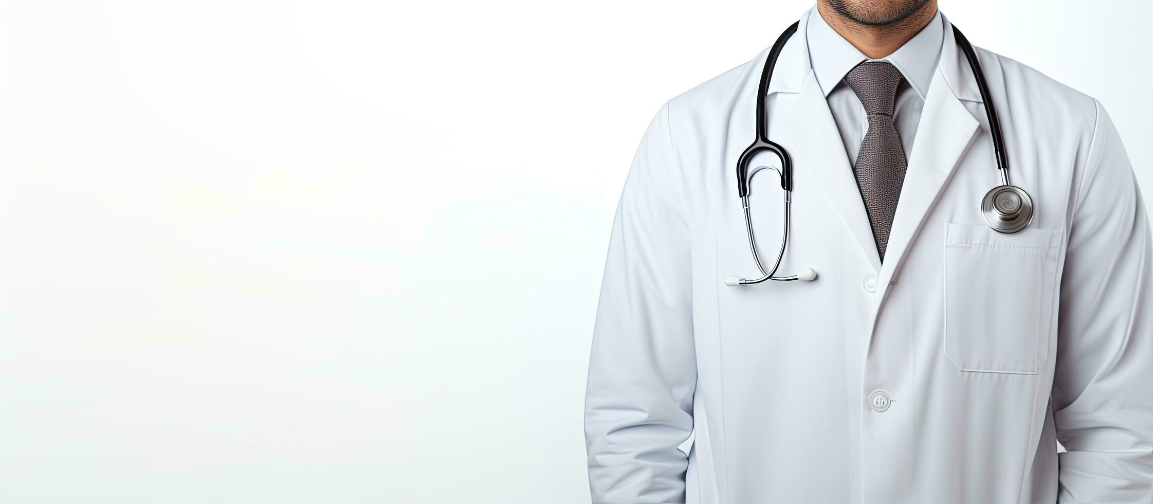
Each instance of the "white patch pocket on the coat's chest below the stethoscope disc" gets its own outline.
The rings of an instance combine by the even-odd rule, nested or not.
[[[944,352],[963,371],[1037,374],[1049,351],[1060,230],[1013,234],[950,223]]]

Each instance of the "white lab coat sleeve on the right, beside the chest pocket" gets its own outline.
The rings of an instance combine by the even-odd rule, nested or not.
[[[1099,103],[1069,226],[1053,418],[1062,503],[1153,502],[1153,261],[1150,224]]]

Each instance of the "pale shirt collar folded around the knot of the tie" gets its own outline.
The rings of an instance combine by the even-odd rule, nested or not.
[[[933,20],[905,45],[877,60],[871,60],[829,27],[816,7],[809,12],[805,38],[813,73],[824,96],[829,96],[845,74],[861,61],[888,61],[900,70],[917,95],[925,99],[944,42],[944,21],[941,10],[937,10]]]

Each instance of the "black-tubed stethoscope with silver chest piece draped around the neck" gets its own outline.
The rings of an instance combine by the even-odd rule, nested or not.
[[[769,80],[773,78],[773,68],[777,65],[777,57],[781,55],[781,50],[784,48],[785,42],[797,31],[799,23],[793,23],[784,33],[781,33],[777,42],[773,44],[773,50],[769,51],[769,57],[764,61],[764,70],[761,73],[761,85],[756,90],[756,140],[753,141],[753,144],[748,149],[745,149],[745,152],[737,160],[737,193],[740,195],[740,205],[745,211],[745,231],[748,234],[748,248],[753,251],[753,261],[756,263],[756,269],[761,271],[761,277],[752,280],[739,277],[725,277],[724,284],[728,286],[760,284],[764,280],[809,281],[816,279],[816,271],[813,269],[805,269],[794,274],[783,277],[776,276],[777,268],[781,266],[781,258],[785,255],[785,247],[789,245],[790,205],[792,203],[792,160],[789,158],[789,151],[770,141],[766,133],[769,119],[764,111],[764,95],[769,89]],[[988,85],[986,85],[985,75],[981,73],[981,63],[977,60],[973,46],[969,44],[969,40],[960,33],[957,27],[952,28],[952,35],[957,39],[957,45],[965,53],[965,59],[969,60],[969,66],[973,70],[973,77],[977,78],[977,88],[981,93],[981,100],[985,103],[985,115],[989,120],[989,134],[993,135],[993,150],[996,152],[997,170],[1001,172],[1001,185],[990,189],[981,198],[981,217],[985,219],[985,224],[993,228],[993,231],[998,233],[1016,233],[1024,230],[1030,220],[1033,219],[1033,200],[1028,197],[1028,193],[1025,193],[1025,189],[1009,183],[1009,159],[1005,157],[1004,140],[1001,137],[1001,122],[997,121],[997,112],[994,110],[993,100],[989,98]],[[781,158],[781,168],[758,166],[749,172],[748,165],[753,160],[753,156],[761,151],[769,151],[777,155]],[[761,256],[756,253],[756,239],[753,238],[753,218],[748,210],[749,182],[758,172],[764,168],[777,172],[777,175],[781,176],[781,188],[785,191],[784,232],[781,238],[777,259],[769,270],[764,269],[761,263]]]

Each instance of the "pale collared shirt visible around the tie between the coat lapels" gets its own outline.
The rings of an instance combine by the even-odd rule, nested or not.
[[[936,70],[941,44],[944,42],[944,22],[941,18],[941,12],[937,10],[933,20],[896,52],[876,60],[866,57],[849,40],[845,40],[841,33],[837,33],[832,27],[829,27],[816,8],[813,8],[813,14],[816,15],[809,15],[805,33],[808,39],[808,57],[813,65],[813,73],[816,75],[816,82],[821,85],[826,100],[829,103],[832,120],[837,123],[837,130],[841,131],[841,140],[845,144],[849,163],[857,164],[857,151],[860,149],[861,141],[865,140],[868,116],[865,114],[865,106],[857,98],[857,93],[845,83],[844,77],[849,70],[862,61],[888,61],[905,76],[897,88],[892,118],[907,160],[917,137],[917,125],[921,120],[925,97],[928,95],[929,83]]]

